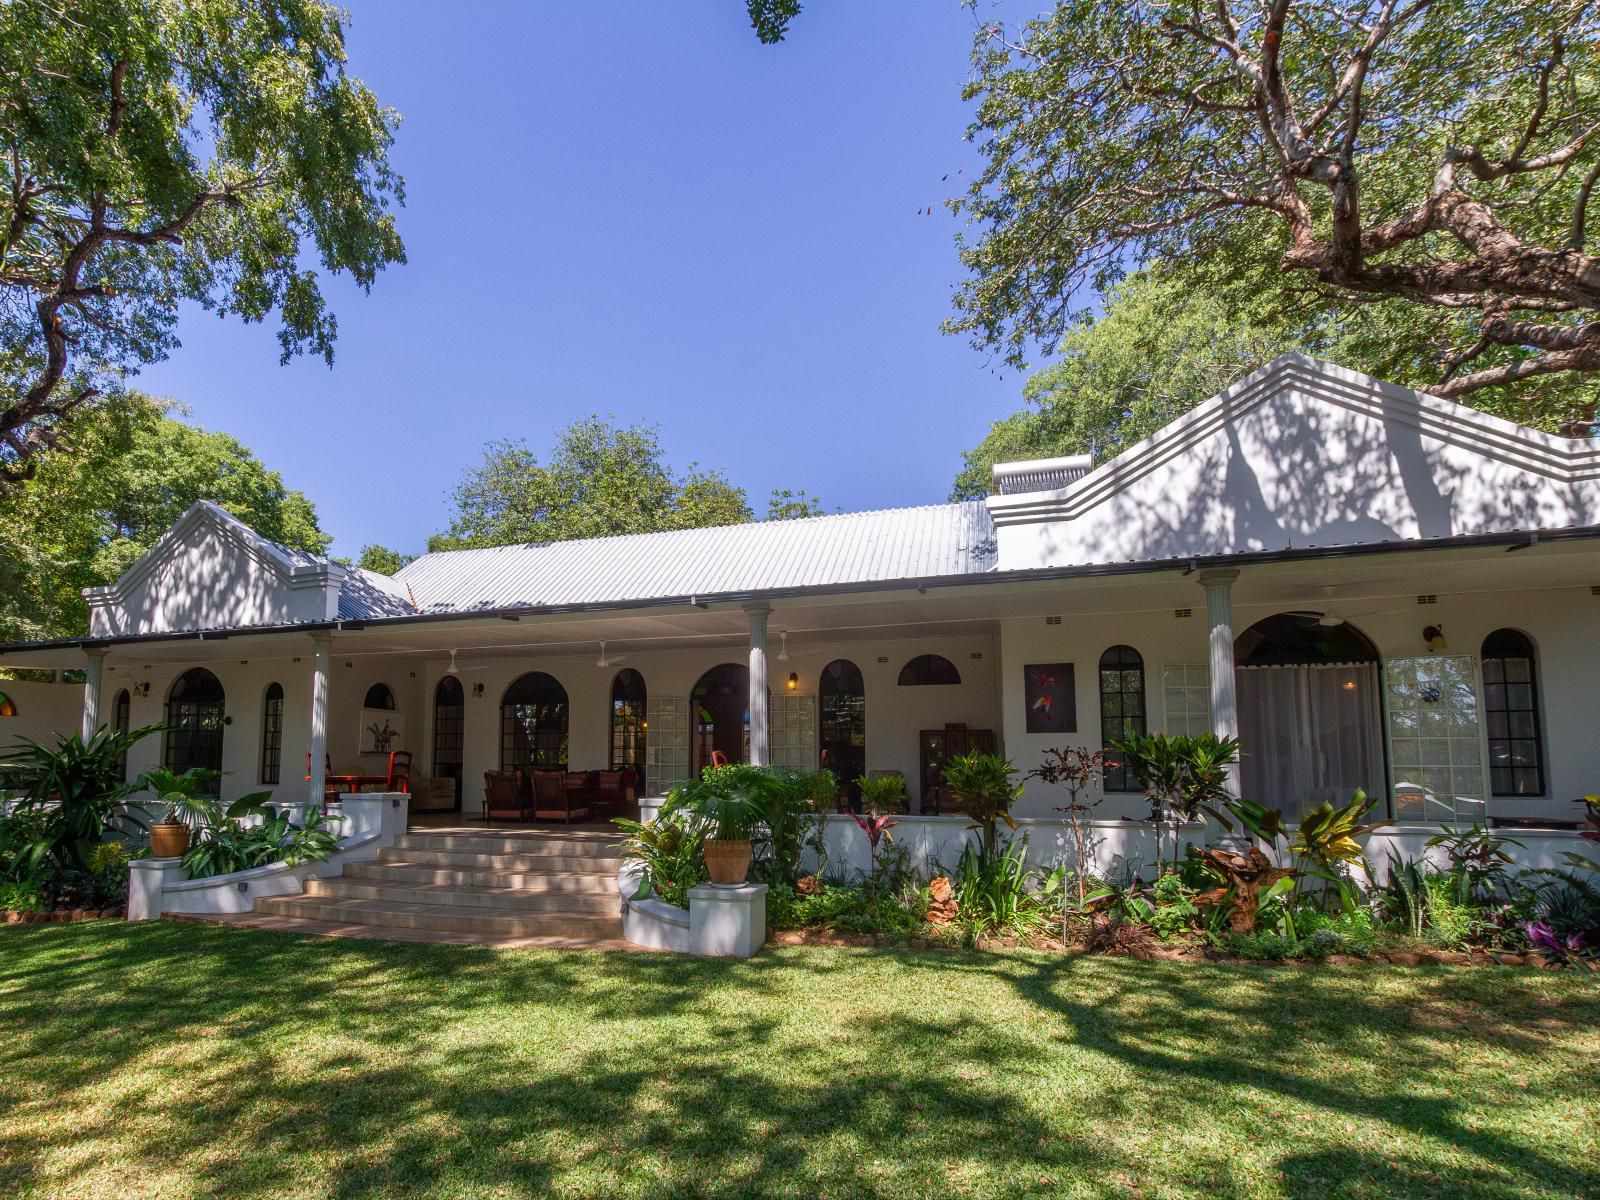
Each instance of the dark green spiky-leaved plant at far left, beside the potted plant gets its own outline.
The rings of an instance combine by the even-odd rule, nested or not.
[[[5,766],[26,790],[10,819],[29,838],[8,851],[14,877],[86,872],[88,854],[107,834],[142,829],[141,810],[128,802],[136,786],[123,779],[122,763],[130,747],[160,728],[120,733],[102,726],[88,738],[61,734],[54,747],[27,738],[13,747]]]

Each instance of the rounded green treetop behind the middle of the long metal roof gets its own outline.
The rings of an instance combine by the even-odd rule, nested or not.
[[[718,472],[674,472],[656,426],[589,416],[557,434],[547,464],[525,442],[491,442],[451,501],[429,550],[610,538],[750,520],[742,488]]]

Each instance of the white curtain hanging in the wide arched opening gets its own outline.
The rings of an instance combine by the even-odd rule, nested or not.
[[[1240,790],[1299,821],[1357,787],[1384,795],[1378,666],[1238,669]]]

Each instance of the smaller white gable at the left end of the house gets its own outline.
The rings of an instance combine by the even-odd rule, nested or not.
[[[346,568],[194,504],[114,584],[83,590],[90,635],[238,629],[339,616]]]

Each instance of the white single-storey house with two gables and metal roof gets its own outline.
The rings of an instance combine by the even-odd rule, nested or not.
[[[304,798],[326,758],[378,771],[387,725],[467,814],[485,771],[638,766],[654,794],[714,750],[901,771],[931,806],[954,747],[1027,770],[1125,728],[1240,736],[1238,787],[1290,814],[1365,787],[1398,819],[1555,824],[1600,787],[1595,442],[1286,355],[1109,462],[995,483],[394,578],[197,504],[83,637],[0,646],[86,672],[0,682],[0,742],[165,722],[130,773]],[[1030,784],[1019,811],[1053,803]]]

